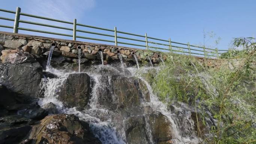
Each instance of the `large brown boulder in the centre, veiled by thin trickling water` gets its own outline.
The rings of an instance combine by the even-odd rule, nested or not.
[[[139,113],[141,102],[149,102],[149,91],[145,83],[135,77],[105,74],[97,89],[97,104],[122,113]],[[132,110],[132,109],[134,110]]]

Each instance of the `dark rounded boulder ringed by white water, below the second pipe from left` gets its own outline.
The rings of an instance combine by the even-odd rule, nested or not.
[[[67,107],[86,107],[90,96],[90,77],[86,73],[70,74],[57,94]]]

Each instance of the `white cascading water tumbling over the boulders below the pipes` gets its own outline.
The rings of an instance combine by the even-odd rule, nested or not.
[[[156,67],[157,69],[157,67]],[[158,100],[158,97],[153,94],[152,88],[143,78],[137,76],[137,69],[128,68],[131,74],[122,74],[115,67],[110,65],[102,66],[92,66],[90,70],[86,73],[91,77],[91,98],[89,100],[89,107],[83,111],[77,111],[76,108],[65,108],[58,100],[58,95],[56,92],[61,91],[60,86],[67,79],[70,73],[63,73],[62,71],[50,70],[51,73],[54,73],[58,76],[55,79],[44,79],[42,81],[42,89],[45,91],[45,97],[40,99],[39,104],[41,106],[47,104],[48,102],[53,102],[57,105],[60,113],[68,113],[75,114],[79,117],[80,120],[89,123],[90,131],[95,135],[95,137],[99,138],[99,140],[103,144],[125,144],[127,142],[127,135],[125,130],[125,122],[129,118],[128,116],[120,114],[116,109],[109,109],[106,107],[107,104],[110,103],[110,107],[115,105],[112,102],[101,102],[102,100],[107,99],[116,99],[116,94],[113,92],[112,86],[114,85],[113,79],[121,80],[121,83],[126,83],[124,81],[126,78],[131,80],[131,83],[134,83],[134,77],[138,77],[141,81],[139,83],[145,83],[147,90],[149,91],[150,101],[149,102],[141,102],[142,107],[150,107],[153,111],[159,111],[164,116],[168,118],[171,122],[171,131],[173,133],[173,139],[171,140],[173,144],[198,144],[199,139],[196,137],[193,129],[193,122],[191,117],[189,117],[189,113],[186,116],[177,116],[174,113],[170,113],[167,110],[167,106]],[[142,70],[142,69],[141,69]],[[116,78],[113,78],[116,74],[119,74]],[[118,86],[118,85],[116,85]],[[117,88],[117,92],[119,88]],[[131,88],[129,88],[131,91]],[[135,91],[135,90],[134,90]],[[104,95],[109,94],[111,97],[104,97]],[[143,100],[144,101],[144,100]],[[142,108],[143,109],[143,108]],[[135,109],[137,110],[137,109]],[[133,110],[128,110],[133,111]],[[144,113],[144,114],[143,114]],[[147,141],[145,144],[156,144],[154,140],[153,130],[150,127],[152,123],[147,114],[144,111],[141,113],[135,113],[135,116],[140,115],[145,117],[145,125],[144,129],[147,135]],[[179,123],[180,119],[183,123]]]

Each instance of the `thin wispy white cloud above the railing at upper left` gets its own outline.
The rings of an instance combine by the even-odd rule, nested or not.
[[[24,11],[48,18],[73,21],[95,7],[95,0],[33,0],[24,1]]]

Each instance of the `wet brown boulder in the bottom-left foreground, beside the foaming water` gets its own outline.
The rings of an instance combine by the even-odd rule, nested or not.
[[[39,144],[101,144],[90,130],[74,114],[55,114],[45,117],[41,124],[34,126],[29,139]]]

